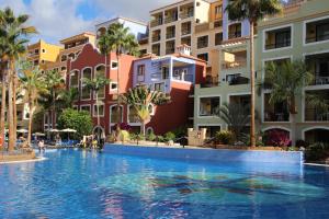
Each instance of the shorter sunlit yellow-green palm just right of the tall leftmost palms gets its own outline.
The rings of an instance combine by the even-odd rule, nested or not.
[[[33,116],[37,106],[37,100],[39,99],[41,93],[46,93],[46,87],[44,81],[44,76],[42,71],[34,67],[31,62],[23,62],[22,73],[20,77],[21,89],[24,93],[23,100],[29,104],[29,136],[27,136],[27,146],[31,145],[31,135],[32,135],[32,122]]]

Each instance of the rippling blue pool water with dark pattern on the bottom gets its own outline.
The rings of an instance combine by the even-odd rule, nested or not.
[[[0,165],[0,218],[329,218],[329,169],[79,150]]]

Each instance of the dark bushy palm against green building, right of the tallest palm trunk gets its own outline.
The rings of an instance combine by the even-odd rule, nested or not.
[[[292,145],[296,142],[296,119],[298,113],[296,100],[302,99],[303,89],[313,81],[314,77],[307,70],[303,60],[285,61],[266,65],[265,80],[261,88],[270,90],[270,103],[287,103],[291,118]]]

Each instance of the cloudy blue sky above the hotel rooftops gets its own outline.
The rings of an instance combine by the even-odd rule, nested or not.
[[[37,28],[39,38],[59,44],[63,38],[81,32],[94,32],[94,25],[115,16],[147,22],[149,11],[177,0],[0,0],[0,8],[10,7],[15,14],[29,14],[29,25]]]

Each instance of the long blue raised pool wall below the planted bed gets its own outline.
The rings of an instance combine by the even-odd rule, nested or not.
[[[105,143],[104,152],[148,158],[180,159],[211,162],[258,162],[304,164],[303,151],[235,150],[212,148],[178,148],[158,146]]]

